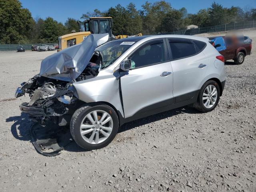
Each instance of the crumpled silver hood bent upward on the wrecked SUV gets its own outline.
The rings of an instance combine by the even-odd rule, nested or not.
[[[41,62],[40,76],[71,81],[86,68],[94,50],[108,41],[108,33],[90,34],[78,44],[46,57]]]

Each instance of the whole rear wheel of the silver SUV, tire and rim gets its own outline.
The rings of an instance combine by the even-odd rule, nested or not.
[[[210,112],[216,108],[220,99],[220,86],[214,80],[205,82],[199,91],[194,107],[202,112]]]

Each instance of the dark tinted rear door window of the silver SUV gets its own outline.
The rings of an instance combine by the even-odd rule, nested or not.
[[[196,54],[196,48],[190,40],[169,39],[172,59],[180,59]]]

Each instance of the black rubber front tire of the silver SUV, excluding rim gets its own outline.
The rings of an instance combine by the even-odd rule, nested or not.
[[[90,144],[89,142],[86,142],[82,138],[82,135],[80,134],[80,125],[82,123],[82,120],[88,113],[94,110],[103,110],[107,112],[113,120],[113,128],[112,128],[112,132],[110,133],[110,136],[108,136],[106,140],[104,140],[99,144]],[[115,110],[106,104],[99,104],[99,105],[85,104],[84,106],[78,108],[74,112],[70,121],[70,132],[73,139],[80,147],[86,150],[95,150],[95,149],[106,147],[115,138],[116,133],[118,132],[118,128],[119,128],[118,116]]]

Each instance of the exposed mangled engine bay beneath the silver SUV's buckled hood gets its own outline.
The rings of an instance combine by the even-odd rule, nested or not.
[[[76,97],[73,82],[94,78],[98,75],[102,57],[100,52],[94,52],[89,64],[75,80],[66,82],[56,80],[39,74],[23,82],[16,91],[16,98],[29,94],[30,102],[22,103],[20,110],[28,113],[30,118],[42,125],[47,121],[54,122],[58,126],[66,126],[80,100]]]

